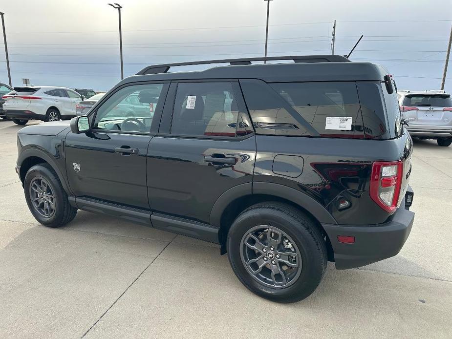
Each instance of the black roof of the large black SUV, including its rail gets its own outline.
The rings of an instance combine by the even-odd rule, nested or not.
[[[294,60],[295,63],[251,64],[251,61]],[[170,67],[196,64],[229,63],[202,71],[167,73]],[[149,74],[151,73],[151,74]],[[139,81],[261,79],[265,82],[295,81],[383,81],[387,71],[377,64],[349,62],[339,55],[288,56],[269,58],[225,59],[145,67],[118,85]]]

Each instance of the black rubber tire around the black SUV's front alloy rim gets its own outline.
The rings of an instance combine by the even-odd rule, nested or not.
[[[41,212],[38,211],[35,205],[33,205],[33,197],[30,193],[31,184],[33,182],[36,182],[36,180],[42,179],[44,179],[50,187],[50,191],[53,193],[52,195],[54,199],[54,211],[53,214],[48,217],[45,217]],[[38,220],[42,225],[47,227],[60,227],[75,218],[77,209],[69,204],[67,194],[63,189],[63,186],[61,185],[60,179],[50,165],[42,163],[30,168],[25,174],[23,189],[25,192],[25,200],[31,214],[33,214],[35,219]]]

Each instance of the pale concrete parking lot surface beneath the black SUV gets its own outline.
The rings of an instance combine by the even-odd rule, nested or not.
[[[452,146],[415,141],[398,255],[328,263],[285,305],[242,286],[214,244],[83,211],[41,226],[14,170],[20,128],[0,120],[0,338],[452,338]]]

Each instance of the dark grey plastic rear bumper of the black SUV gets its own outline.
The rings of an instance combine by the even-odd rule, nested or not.
[[[412,194],[410,188],[409,191]],[[411,232],[413,221],[414,213],[402,204],[393,214],[392,220],[384,224],[322,226],[331,241],[336,268],[344,270],[365,266],[398,254]],[[338,235],[354,236],[355,242],[340,243]]]

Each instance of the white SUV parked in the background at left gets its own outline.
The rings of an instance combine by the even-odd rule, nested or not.
[[[75,117],[82,95],[65,87],[14,87],[4,95],[3,109],[8,118],[18,125],[28,120],[57,121]]]

